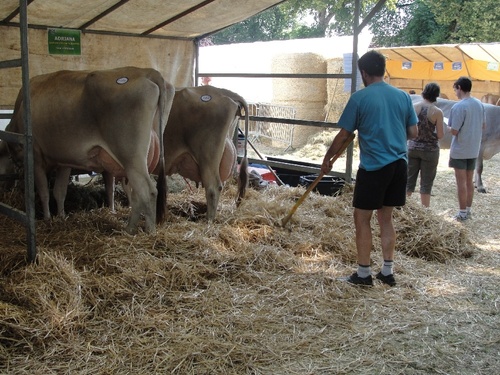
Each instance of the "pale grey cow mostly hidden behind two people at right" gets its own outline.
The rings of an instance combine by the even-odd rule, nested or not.
[[[420,95],[411,95],[412,101],[421,100]],[[455,100],[446,100],[438,98],[436,106],[441,108],[445,117],[446,126],[447,119],[450,117],[451,107],[457,103]],[[486,128],[483,129],[481,138],[481,147],[479,148],[479,156],[477,158],[476,171],[474,182],[476,189],[480,193],[486,193],[486,188],[483,185],[482,173],[484,159],[489,160],[500,151],[500,107],[491,104],[483,104],[485,112]],[[449,149],[451,145],[451,134],[447,129],[444,129],[444,137],[439,140],[441,148]]]

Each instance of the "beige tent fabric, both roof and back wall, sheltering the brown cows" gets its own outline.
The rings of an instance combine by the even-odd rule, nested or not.
[[[29,74],[119,66],[155,68],[175,86],[194,85],[194,40],[282,0],[28,1]],[[0,1],[0,61],[19,59],[19,0]],[[81,31],[81,55],[48,52],[48,29]],[[2,69],[0,109],[12,109],[21,68]]]

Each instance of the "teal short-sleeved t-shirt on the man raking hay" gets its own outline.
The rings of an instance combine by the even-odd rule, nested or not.
[[[338,125],[358,131],[359,167],[378,170],[407,158],[407,132],[417,115],[410,96],[385,82],[372,83],[351,95]]]

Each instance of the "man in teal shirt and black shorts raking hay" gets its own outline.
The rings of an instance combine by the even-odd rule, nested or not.
[[[377,211],[384,263],[377,279],[390,286],[394,279],[396,232],[394,207],[406,203],[407,140],[417,136],[417,115],[410,96],[384,82],[385,57],[369,51],[358,60],[365,88],[354,93],[338,122],[340,131],[325,154],[321,171],[332,169],[331,159],[355,130],[360,164],[354,187],[354,225],[358,269],[346,278],[351,284],[373,285],[371,275],[373,211]]]

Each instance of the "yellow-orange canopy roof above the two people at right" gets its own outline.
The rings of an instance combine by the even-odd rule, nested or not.
[[[387,57],[391,78],[455,80],[466,75],[500,82],[500,43],[376,48]]]

